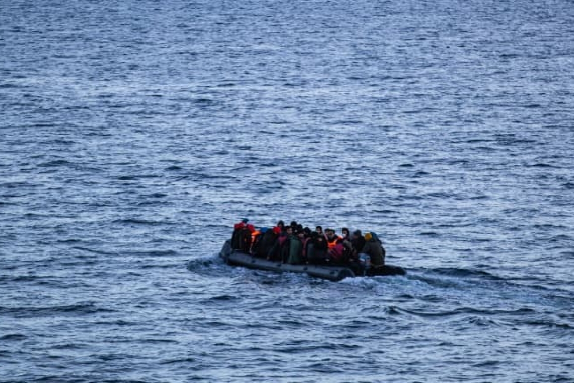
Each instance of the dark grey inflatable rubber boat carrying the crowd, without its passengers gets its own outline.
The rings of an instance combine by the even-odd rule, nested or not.
[[[230,241],[223,245],[219,256],[228,265],[243,266],[250,269],[267,270],[273,272],[305,273],[310,276],[327,279],[329,281],[341,281],[344,278],[352,278],[357,275],[346,266],[324,266],[324,265],[290,265],[278,261],[269,261],[263,258],[257,258],[250,254],[239,252],[231,249]],[[365,275],[404,275],[405,269],[398,266],[385,265],[382,268],[369,268],[365,270]]]

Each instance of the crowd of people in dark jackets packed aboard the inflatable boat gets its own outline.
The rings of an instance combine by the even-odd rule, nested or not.
[[[254,257],[292,265],[346,265],[360,267],[360,258],[368,256],[373,268],[385,265],[385,249],[375,233],[343,227],[341,234],[316,226],[315,231],[296,221],[289,225],[280,220],[273,228],[257,229],[242,219],[234,225],[231,246]]]

